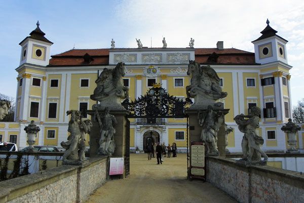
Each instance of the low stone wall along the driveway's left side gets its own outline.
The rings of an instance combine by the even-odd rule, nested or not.
[[[0,202],[84,202],[106,181],[107,157],[0,182]]]

